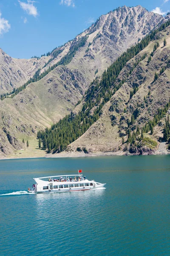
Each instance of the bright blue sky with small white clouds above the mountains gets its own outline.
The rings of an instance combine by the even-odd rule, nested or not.
[[[0,0],[0,48],[14,58],[40,56],[124,5],[170,10],[170,0]]]

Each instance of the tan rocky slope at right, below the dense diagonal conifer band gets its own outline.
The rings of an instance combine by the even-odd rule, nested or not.
[[[131,131],[136,131],[137,126],[141,130],[146,122],[150,119],[153,120],[158,109],[166,106],[170,99],[170,67],[167,67],[170,56],[170,27],[159,32],[156,38],[158,38],[156,41],[151,42],[136,57],[128,61],[116,80],[116,83],[119,84],[119,81],[126,78],[125,83],[105,104],[100,118],[79,139],[71,143],[70,151],[76,151],[77,147],[85,147],[89,152],[127,149],[127,145],[122,144],[122,137],[126,142],[126,129],[134,112],[137,112],[137,115],[133,124],[129,125]],[[164,38],[167,40],[165,47]],[[157,42],[160,46],[155,50],[148,63],[148,56]],[[134,63],[144,54],[146,57],[133,69]],[[165,70],[160,74],[163,67]],[[127,77],[127,73],[130,73],[132,69],[132,73]],[[160,75],[154,81],[155,73]],[[137,87],[138,90],[130,98],[130,92],[134,90],[134,87]],[[161,122],[154,127],[153,134],[149,132],[147,137],[159,144],[159,138],[163,137],[164,123],[164,119],[161,119]],[[142,150],[135,148],[131,152],[136,154],[153,153],[150,149],[153,148],[144,147]]]

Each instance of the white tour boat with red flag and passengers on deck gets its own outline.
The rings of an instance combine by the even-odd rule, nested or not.
[[[80,173],[82,173],[82,170],[79,170],[78,175],[63,175],[63,177],[59,175],[34,178],[36,184],[33,184],[32,189],[28,188],[28,192],[72,192],[79,190],[91,190],[105,186],[105,184],[86,179],[86,177],[83,177]]]

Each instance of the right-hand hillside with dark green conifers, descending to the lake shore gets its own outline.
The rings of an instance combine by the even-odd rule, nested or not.
[[[166,77],[166,72],[169,72],[169,47],[167,47],[167,41],[165,39],[165,37],[169,35],[169,24],[170,22],[167,21],[167,23],[164,23],[164,25],[160,26],[159,29],[154,30],[150,33],[150,35],[142,39],[139,44],[128,49],[126,53],[119,57],[117,61],[115,61],[108,68],[108,70],[103,73],[100,82],[99,79],[94,80],[91,83],[91,87],[88,89],[87,94],[83,99],[82,110],[79,111],[77,115],[71,113],[71,115],[66,116],[56,125],[52,125],[51,129],[46,129],[44,132],[38,132],[38,137],[42,140],[43,146],[45,148],[48,148],[48,152],[50,152],[52,149],[54,150],[54,152],[60,152],[63,149],[67,148],[70,143],[77,140],[77,138],[79,137],[80,139],[75,141],[75,143],[72,143],[71,148],[68,149],[72,149],[73,151],[83,150],[85,151],[85,153],[93,151],[93,143],[91,143],[90,148],[89,145],[87,145],[87,141],[89,140],[89,138],[87,138],[87,135],[89,135],[89,133],[91,134],[91,140],[94,141],[96,139],[95,144],[97,144],[96,146],[98,146],[97,149],[99,150],[99,146],[101,146],[101,144],[96,143],[99,140],[99,134],[97,133],[100,133],[103,124],[100,123],[100,125],[97,125],[97,123],[99,122],[96,121],[98,119],[100,119],[99,121],[101,121],[105,115],[110,118],[110,125],[113,128],[119,128],[118,131],[113,132],[113,137],[115,136],[115,134],[116,136],[118,136],[117,142],[116,140],[110,142],[109,139],[107,143],[103,143],[105,144],[105,148],[108,147],[106,150],[118,151],[120,149],[123,149],[125,151],[129,150],[130,153],[142,154],[149,153],[154,148],[156,148],[157,142],[153,140],[154,138],[151,139],[150,137],[144,136],[144,134],[154,134],[153,129],[156,128],[160,120],[164,118],[170,107],[170,92],[168,91],[169,85],[164,85],[165,82],[169,84],[167,79],[165,79],[165,81],[161,81],[161,88],[163,89],[163,91],[166,90],[166,95],[161,92],[161,96],[164,95],[164,98],[162,100],[159,99],[160,96],[158,97],[158,92],[156,93],[156,98],[155,95],[152,95],[151,93],[153,87],[155,87],[155,84],[157,83],[157,80],[160,79],[161,76]],[[166,27],[167,29],[165,29]],[[156,38],[157,40],[155,40]],[[169,41],[169,38],[167,40]],[[163,44],[163,46],[160,47],[160,44]],[[153,49],[151,48],[151,45],[153,46]],[[140,55],[138,55],[139,53]],[[133,57],[135,55],[137,56],[134,59]],[[131,63],[128,62],[130,59]],[[139,100],[140,97],[138,95],[138,101],[136,102],[136,104],[132,105],[132,102],[136,98],[136,94],[139,94],[139,89],[142,90],[142,86],[140,84],[141,81],[133,81],[133,76],[135,74],[137,78],[136,80],[141,80],[139,79],[139,77],[141,76],[141,72],[139,72],[139,70],[141,71],[141,65],[143,65],[144,62],[146,63],[145,66],[147,67],[147,70],[143,70],[142,75],[144,76],[144,72],[153,73],[153,65],[155,66],[155,73],[154,76],[151,76],[151,78],[153,77],[153,80],[151,80],[151,82],[146,79],[147,76],[142,77],[145,83],[145,80],[149,82],[149,91],[147,95],[143,97],[142,101]],[[158,67],[160,68],[160,70],[157,73],[156,69]],[[124,70],[123,77],[121,77],[120,79],[119,74],[123,69],[126,69],[126,73]],[[148,76],[148,79],[150,79],[150,74]],[[116,97],[116,91],[119,92],[120,88],[124,87],[125,84],[128,84],[130,86],[130,91],[128,93],[129,99],[124,105],[125,108],[123,108],[123,106],[120,106],[122,105],[123,99],[121,97]],[[158,87],[156,87],[155,90],[160,90],[160,88],[158,89]],[[155,101],[157,101],[157,104],[155,103]],[[102,113],[103,109],[107,108],[105,106],[106,102],[110,103],[110,108],[108,109],[107,113]],[[156,106],[153,106],[151,111],[150,105],[152,105],[152,102],[154,102]],[[142,116],[144,112],[145,118],[143,119]],[[95,134],[94,132],[92,133],[93,123],[95,123]],[[163,138],[161,140],[168,140],[170,136],[169,128],[170,124],[168,118],[166,120],[166,126],[163,131],[164,135],[162,136]],[[84,135],[82,136],[82,134]],[[94,138],[94,136],[96,138]],[[157,140],[160,140],[160,138],[157,137]],[[83,141],[83,144],[79,144],[79,141]],[[75,145],[77,146],[77,148],[75,148]],[[117,148],[114,148],[115,145],[117,146]]]

